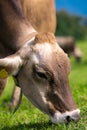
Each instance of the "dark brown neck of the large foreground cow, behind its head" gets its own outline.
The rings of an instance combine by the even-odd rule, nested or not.
[[[16,2],[0,1],[0,50],[4,50],[2,55],[15,53],[24,44],[22,41],[36,32],[24,17],[20,4]]]

